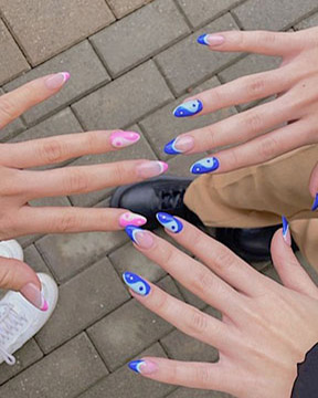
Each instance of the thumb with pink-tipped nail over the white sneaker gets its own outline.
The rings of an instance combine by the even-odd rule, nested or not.
[[[47,310],[36,273],[22,261],[0,256],[0,287],[19,291],[36,308]]]

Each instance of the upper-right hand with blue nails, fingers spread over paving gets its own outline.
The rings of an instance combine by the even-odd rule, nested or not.
[[[273,95],[276,98],[182,134],[166,146],[168,153],[188,155],[213,150],[218,161],[210,171],[226,172],[317,144],[317,36],[318,28],[290,33],[227,31],[200,36],[199,43],[211,51],[273,55],[283,62],[277,70],[243,76],[186,100],[174,111],[176,116],[200,116]],[[223,146],[231,148],[220,149]],[[198,170],[200,174],[200,168]],[[318,192],[318,166],[312,172],[310,192],[312,197]]]

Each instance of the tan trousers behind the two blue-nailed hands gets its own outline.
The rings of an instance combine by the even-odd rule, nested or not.
[[[309,178],[318,145],[307,146],[266,164],[195,179],[184,197],[205,226],[258,228],[282,222],[308,262],[318,269],[318,211],[312,212]]]

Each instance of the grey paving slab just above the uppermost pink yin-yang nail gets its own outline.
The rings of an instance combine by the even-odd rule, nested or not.
[[[152,61],[136,67],[73,105],[87,129],[124,128],[172,100]]]

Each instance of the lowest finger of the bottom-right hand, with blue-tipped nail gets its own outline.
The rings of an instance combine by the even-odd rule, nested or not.
[[[223,371],[220,364],[146,357],[130,362],[129,368],[147,378],[170,385],[232,394],[234,385],[239,383],[233,375],[229,376]]]

